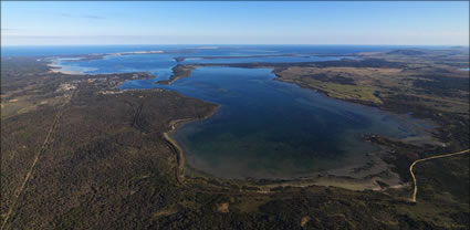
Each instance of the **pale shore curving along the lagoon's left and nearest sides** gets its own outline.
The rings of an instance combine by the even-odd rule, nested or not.
[[[205,172],[192,168],[191,166],[186,166],[186,156],[182,147],[178,142],[171,136],[178,127],[181,127],[185,124],[207,119],[215,115],[221,105],[217,105],[209,114],[200,118],[182,118],[174,119],[169,122],[170,129],[163,133],[164,139],[171,146],[170,150],[174,151],[177,166],[176,166],[176,176],[179,184],[187,186],[184,179],[186,176],[191,177],[191,179],[197,179],[202,177],[206,179],[216,179],[216,180],[230,180],[239,181],[240,184],[249,184],[260,188],[259,192],[273,192],[273,188],[279,187],[309,187],[309,186],[322,186],[322,187],[336,187],[347,190],[375,190],[382,191],[387,190],[388,188],[401,188],[409,186],[408,182],[404,182],[399,175],[395,174],[389,165],[385,163],[380,156],[387,154],[387,150],[378,147],[379,149],[374,153],[366,154],[367,160],[364,163],[344,166],[341,168],[328,169],[325,171],[311,172],[309,175],[292,177],[292,178],[220,178]],[[186,174],[186,167],[189,167],[190,174]],[[379,176],[380,174],[386,174],[387,177]],[[264,180],[264,181],[263,181]],[[267,182],[268,181],[268,182]],[[385,185],[385,186],[384,186]],[[246,190],[250,192],[250,190]]]

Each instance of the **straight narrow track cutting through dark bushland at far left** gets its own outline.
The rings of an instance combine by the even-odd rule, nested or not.
[[[29,179],[31,178],[31,176],[32,176],[32,174],[34,171],[34,168],[38,165],[39,158],[48,149],[49,145],[51,144],[51,138],[53,136],[53,133],[54,133],[55,128],[58,127],[59,121],[60,121],[60,118],[61,118],[61,116],[63,114],[63,109],[62,108],[72,100],[72,97],[75,95],[75,92],[76,92],[76,90],[72,92],[70,98],[65,98],[65,102],[62,105],[60,105],[59,112],[56,113],[56,115],[54,117],[54,122],[52,123],[51,128],[49,129],[49,133],[45,136],[45,139],[42,143],[42,145],[41,145],[41,148],[38,150],[35,157],[34,157],[34,161],[33,161],[33,164],[30,167],[30,170],[28,170],[28,174],[24,177],[23,182],[18,188],[17,192],[14,194],[14,196],[12,198],[12,203],[11,203],[11,206],[10,206],[8,212],[7,212],[7,216],[6,216],[4,220],[3,220],[2,226],[1,226],[0,229],[8,229],[8,227],[9,227],[8,226],[8,220],[10,219],[10,216],[13,212],[13,210],[14,210],[17,203],[18,203],[18,199],[19,199],[20,195],[23,192],[24,188],[27,187],[27,184],[28,184]],[[53,106],[55,106],[55,104]]]

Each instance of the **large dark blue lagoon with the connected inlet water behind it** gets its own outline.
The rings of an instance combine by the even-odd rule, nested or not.
[[[270,51],[265,46],[250,49],[244,48],[244,54]],[[279,50],[282,49],[275,52]],[[240,52],[219,50],[217,55],[221,54],[238,56]],[[332,100],[294,84],[274,81],[275,76],[268,69],[198,67],[191,76],[171,85],[156,85],[158,80],[169,77],[171,67],[177,64],[174,58],[181,55],[187,54],[107,56],[61,64],[85,73],[152,72],[157,74],[155,79],[127,81],[121,88],[159,87],[220,104],[212,117],[187,124],[174,135],[185,150],[189,167],[217,177],[291,178],[361,164],[367,159],[367,153],[376,150],[362,140],[363,135],[408,137],[420,135],[416,130],[425,125],[407,116]],[[296,62],[297,59],[341,58],[258,56],[203,62],[244,63],[253,59]]]

